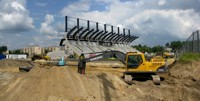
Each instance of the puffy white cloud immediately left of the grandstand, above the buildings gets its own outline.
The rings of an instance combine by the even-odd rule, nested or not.
[[[54,15],[46,14],[45,21],[41,23],[40,34],[33,39],[36,44],[43,46],[58,45],[64,33],[64,23],[54,22]]]

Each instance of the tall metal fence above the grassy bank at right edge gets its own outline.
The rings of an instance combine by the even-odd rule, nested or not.
[[[182,53],[200,53],[200,30],[193,32],[182,47]]]

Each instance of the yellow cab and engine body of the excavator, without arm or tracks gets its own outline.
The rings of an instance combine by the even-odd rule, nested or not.
[[[156,56],[147,61],[143,53],[128,52],[126,54],[126,72],[129,73],[165,72],[165,64],[165,59],[161,56]]]

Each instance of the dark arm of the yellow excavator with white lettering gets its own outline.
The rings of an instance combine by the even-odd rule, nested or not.
[[[79,62],[92,62],[92,61],[98,61],[103,60],[107,58],[117,58],[119,59],[124,65],[126,65],[126,54],[120,51],[115,50],[108,50],[103,52],[94,52],[98,53],[98,55],[90,58],[86,58],[84,60],[79,60]],[[87,53],[87,54],[94,54],[94,53]]]

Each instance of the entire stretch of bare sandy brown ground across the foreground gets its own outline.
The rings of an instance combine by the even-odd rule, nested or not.
[[[200,100],[199,61],[176,63],[161,85],[151,80],[127,85],[119,62],[89,63],[86,75],[77,73],[75,62],[63,67],[35,64],[30,72],[20,73],[16,68],[30,66],[30,61],[0,61],[0,101]]]

